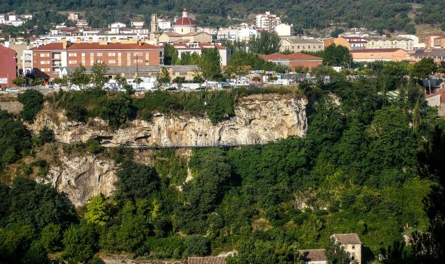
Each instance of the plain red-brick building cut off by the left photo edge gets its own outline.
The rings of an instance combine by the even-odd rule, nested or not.
[[[15,50],[0,45],[0,87],[12,86],[16,77]]]

